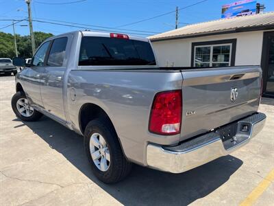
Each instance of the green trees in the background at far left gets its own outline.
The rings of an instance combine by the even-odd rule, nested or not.
[[[53,36],[50,33],[44,32],[34,32],[36,48],[43,42],[45,39]],[[17,50],[18,56],[24,58],[32,58],[32,43],[30,36],[21,36],[16,34]],[[14,48],[14,36],[12,34],[7,34],[0,32],[0,58],[8,57],[14,58],[15,48]]]

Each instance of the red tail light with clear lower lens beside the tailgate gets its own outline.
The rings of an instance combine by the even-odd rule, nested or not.
[[[159,135],[176,135],[182,126],[182,90],[155,95],[149,119],[149,131]]]

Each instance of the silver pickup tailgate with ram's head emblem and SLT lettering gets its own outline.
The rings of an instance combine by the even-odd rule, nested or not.
[[[180,141],[256,113],[261,72],[257,66],[182,70]]]

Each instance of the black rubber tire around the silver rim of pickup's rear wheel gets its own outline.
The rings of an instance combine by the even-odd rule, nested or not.
[[[105,171],[99,169],[98,164],[92,159],[91,150],[93,146],[91,146],[92,148],[90,150],[90,138],[93,137],[92,135],[98,134],[105,139],[110,155],[110,162],[106,161],[106,163],[109,163],[108,169]],[[84,148],[88,161],[90,162],[92,172],[103,183],[110,184],[122,181],[132,169],[132,163],[125,159],[116,132],[108,119],[99,118],[88,123],[84,132]],[[98,152],[99,150],[95,151]],[[101,156],[101,159],[102,158],[103,156]],[[99,159],[98,161],[102,160]]]

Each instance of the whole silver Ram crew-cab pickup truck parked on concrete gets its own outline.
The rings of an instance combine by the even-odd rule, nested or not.
[[[182,54],[183,55],[183,54]],[[264,126],[258,66],[158,67],[147,38],[71,32],[47,39],[16,76],[12,108],[84,136],[91,169],[121,181],[137,163],[179,173],[247,144]]]

